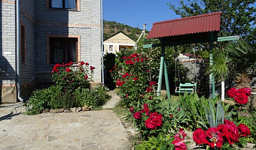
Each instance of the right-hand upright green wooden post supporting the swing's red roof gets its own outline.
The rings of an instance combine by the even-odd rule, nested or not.
[[[210,44],[210,65],[213,64],[213,60],[212,60],[212,47],[213,47],[213,32],[211,31],[209,33],[209,44]],[[209,95],[211,96],[212,94],[212,99],[215,98],[215,77],[214,74],[210,74],[210,93]]]

